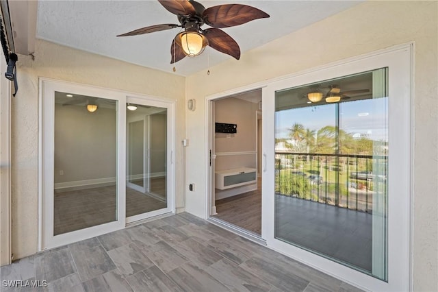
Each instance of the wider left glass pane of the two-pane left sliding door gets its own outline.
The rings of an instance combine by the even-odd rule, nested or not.
[[[117,219],[116,108],[55,92],[54,235]]]

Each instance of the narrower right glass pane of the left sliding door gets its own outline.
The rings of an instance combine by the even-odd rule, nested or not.
[[[127,104],[127,217],[167,207],[166,153],[166,108]]]

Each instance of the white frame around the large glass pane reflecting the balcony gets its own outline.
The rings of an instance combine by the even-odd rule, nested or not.
[[[320,269],[336,278],[371,291],[407,291],[411,286],[411,51],[410,45],[389,49],[371,56],[361,56],[333,66],[288,77],[272,82],[263,88],[263,152],[266,153],[268,173],[263,180],[263,194],[269,194],[266,219],[272,224],[266,234],[268,246],[279,250],[302,263]],[[313,84],[337,77],[344,77],[389,68],[389,173],[387,211],[388,281],[379,280],[346,265],[323,258],[300,247],[275,238],[275,93],[277,90]],[[400,131],[400,129],[402,129]],[[358,250],[360,252],[360,250]]]

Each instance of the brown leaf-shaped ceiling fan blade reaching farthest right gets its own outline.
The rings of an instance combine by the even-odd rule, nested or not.
[[[255,19],[268,18],[269,14],[257,8],[242,4],[224,4],[207,8],[203,19],[207,25],[216,28],[241,25]]]

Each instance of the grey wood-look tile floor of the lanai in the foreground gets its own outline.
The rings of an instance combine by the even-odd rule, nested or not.
[[[188,213],[40,252],[0,275],[1,291],[359,291]]]

